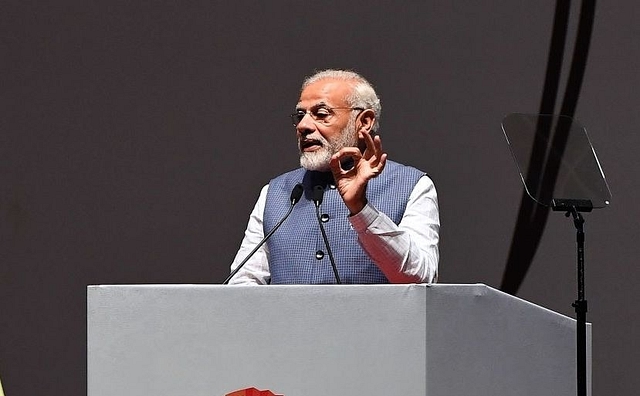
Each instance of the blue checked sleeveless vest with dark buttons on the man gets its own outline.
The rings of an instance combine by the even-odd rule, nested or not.
[[[387,161],[384,171],[369,180],[367,199],[398,224],[411,191],[423,175],[415,168]],[[304,186],[302,199],[267,242],[271,284],[336,283],[313,202],[313,188],[317,185],[325,188],[320,213],[325,218],[328,215],[323,225],[342,283],[389,283],[360,247],[348,220],[349,211],[330,172],[299,168],[271,180],[264,209],[264,233],[273,229],[289,210],[291,191],[297,183]]]

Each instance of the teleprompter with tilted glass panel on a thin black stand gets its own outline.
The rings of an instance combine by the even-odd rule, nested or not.
[[[573,217],[577,242],[577,395],[587,396],[587,300],[584,292],[584,217],[609,204],[611,192],[589,141],[575,120],[561,115],[510,114],[502,130],[529,197]]]

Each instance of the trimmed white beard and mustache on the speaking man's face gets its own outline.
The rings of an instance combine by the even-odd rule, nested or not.
[[[347,126],[333,141],[328,141],[322,135],[312,136],[318,140],[322,147],[316,151],[305,152],[300,150],[300,166],[306,170],[325,172],[330,170],[331,157],[344,147],[357,147],[358,136],[355,134],[355,120],[350,119]],[[298,149],[300,142],[298,141]]]

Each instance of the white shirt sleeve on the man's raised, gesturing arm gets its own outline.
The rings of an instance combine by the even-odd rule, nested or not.
[[[438,279],[440,218],[431,179],[414,187],[400,224],[370,204],[349,217],[358,241],[391,283],[432,283]]]

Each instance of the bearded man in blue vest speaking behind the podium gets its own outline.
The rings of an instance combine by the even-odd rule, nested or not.
[[[372,85],[355,72],[305,79],[291,115],[301,168],[262,188],[230,284],[437,280],[435,186],[387,160],[380,113]]]

